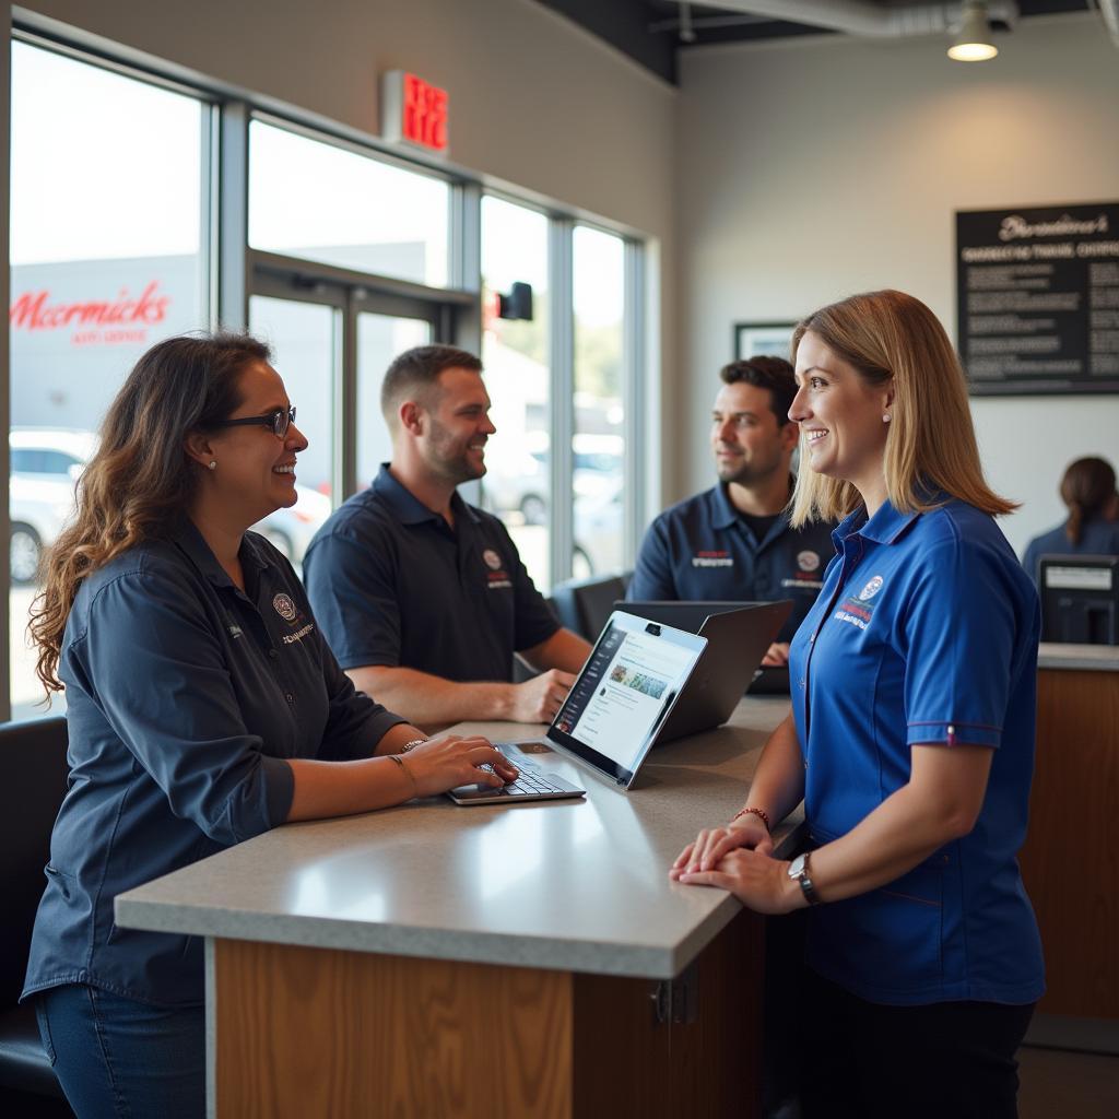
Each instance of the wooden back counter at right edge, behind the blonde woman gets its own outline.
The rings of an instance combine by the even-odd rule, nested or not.
[[[1070,1019],[1088,1038],[1078,1044],[1101,1044],[1092,1034],[1110,1049],[1119,1042],[1119,647],[1040,649],[1037,755],[1019,862],[1045,948],[1040,1015]],[[1091,1023],[1099,1028],[1085,1033]]]

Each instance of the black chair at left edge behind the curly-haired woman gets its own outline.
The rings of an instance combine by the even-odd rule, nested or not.
[[[46,885],[50,829],[66,794],[66,720],[0,725],[0,1089],[63,1099],[39,1041],[35,1007],[19,1006],[31,927]],[[2,1102],[2,1099],[0,1099]],[[7,1110],[7,1108],[4,1109]]]

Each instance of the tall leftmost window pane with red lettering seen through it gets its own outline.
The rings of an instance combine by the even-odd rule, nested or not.
[[[27,43],[12,44],[11,63],[10,695],[21,717],[41,714],[23,638],[39,556],[73,509],[105,407],[153,342],[209,321],[210,107]]]

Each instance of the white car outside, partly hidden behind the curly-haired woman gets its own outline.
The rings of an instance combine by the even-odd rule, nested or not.
[[[44,549],[54,544],[74,513],[74,483],[97,449],[97,436],[63,427],[13,427],[9,445],[11,581],[26,586],[38,577]],[[297,486],[295,492],[294,506],[276,509],[253,528],[299,564],[319,525],[330,516],[330,498],[305,486]]]

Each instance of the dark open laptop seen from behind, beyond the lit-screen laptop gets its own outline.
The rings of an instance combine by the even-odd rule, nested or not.
[[[707,648],[657,739],[659,744],[721,726],[731,717],[792,612],[792,600],[619,602],[615,609],[707,638]]]

